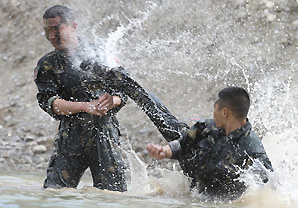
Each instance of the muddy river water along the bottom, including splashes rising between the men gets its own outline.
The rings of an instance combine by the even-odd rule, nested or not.
[[[252,174],[242,178],[248,190],[235,201],[210,200],[190,191],[189,180],[180,171],[164,168],[160,176],[149,176],[146,165],[135,153],[127,153],[131,179],[124,193],[99,190],[92,187],[87,171],[77,189],[43,189],[45,178],[41,173],[0,173],[0,207],[202,207],[202,208],[294,208],[297,203],[297,175],[270,174],[270,182],[258,183]],[[282,177],[282,178],[281,178]],[[292,182],[292,183],[291,183]]]

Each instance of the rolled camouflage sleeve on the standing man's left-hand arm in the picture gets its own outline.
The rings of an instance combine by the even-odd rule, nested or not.
[[[34,81],[38,89],[36,97],[40,108],[53,118],[61,119],[63,116],[56,115],[52,111],[53,101],[60,98],[52,66],[40,60],[35,68],[35,74]]]

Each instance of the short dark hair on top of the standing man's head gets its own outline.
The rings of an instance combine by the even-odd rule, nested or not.
[[[52,6],[48,8],[43,15],[43,19],[55,17],[60,17],[61,23],[69,24],[75,21],[75,16],[71,9],[64,5]]]

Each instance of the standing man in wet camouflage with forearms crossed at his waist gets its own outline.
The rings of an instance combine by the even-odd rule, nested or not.
[[[92,93],[82,86],[77,63],[103,62],[100,49],[76,35],[75,17],[66,6],[45,11],[43,26],[55,48],[43,56],[35,69],[40,107],[60,120],[44,188],[77,187],[90,168],[93,186],[126,191],[124,163],[119,143],[117,113],[126,96],[112,89]]]

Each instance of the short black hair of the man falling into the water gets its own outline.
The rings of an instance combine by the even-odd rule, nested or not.
[[[229,108],[234,116],[246,118],[250,107],[250,98],[247,91],[241,87],[226,87],[218,93],[216,101],[219,110]]]

